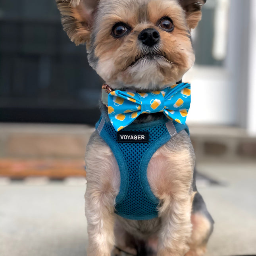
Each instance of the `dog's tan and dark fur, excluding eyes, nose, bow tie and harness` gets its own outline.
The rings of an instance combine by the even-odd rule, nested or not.
[[[112,89],[137,92],[173,85],[192,67],[191,29],[201,19],[206,0],[56,0],[67,35],[75,44],[86,43],[88,60]],[[171,32],[161,29],[163,17],[172,19]],[[113,37],[116,23],[129,33]],[[160,42],[147,47],[138,40],[142,30],[158,31]],[[107,108],[100,106],[108,118]],[[162,118],[143,114],[136,122]],[[152,156],[148,182],[160,200],[159,217],[148,221],[123,219],[114,214],[120,173],[114,155],[97,132],[86,152],[88,221],[87,256],[133,255],[200,256],[213,230],[213,220],[195,186],[194,150],[181,131]]]

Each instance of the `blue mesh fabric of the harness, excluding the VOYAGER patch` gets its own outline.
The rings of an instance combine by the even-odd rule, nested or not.
[[[150,139],[147,143],[116,142],[117,133],[111,123],[105,123],[103,130],[106,132],[105,136],[107,134],[110,138],[112,138],[112,143],[115,143],[115,149],[113,150],[113,145],[111,148],[119,165],[121,183],[123,183],[122,172],[127,171],[129,177],[127,191],[124,198],[121,198],[121,200],[118,202],[117,196],[115,206],[116,213],[128,219],[156,218],[158,216],[158,200],[154,197],[152,191],[150,190],[146,178],[146,171],[152,154],[154,154],[154,152],[162,144],[166,143],[170,139],[170,135],[166,128],[166,121],[162,121],[158,125],[147,128],[145,127],[142,129],[129,128],[129,126],[123,129],[123,131],[148,131]],[[102,136],[102,133],[100,135]],[[103,139],[105,139],[105,136],[102,136]],[[105,141],[110,144],[109,140]],[[123,155],[125,162],[119,160],[120,158],[117,155],[120,153]],[[144,168],[141,167],[141,165],[143,165],[142,161],[144,161]],[[121,185],[120,189],[123,187],[125,186]]]

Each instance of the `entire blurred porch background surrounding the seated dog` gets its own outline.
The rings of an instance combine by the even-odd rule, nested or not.
[[[256,254],[256,0],[207,0],[202,13],[183,81],[216,220],[209,255]],[[85,255],[84,154],[102,83],[54,0],[0,0],[1,256]]]

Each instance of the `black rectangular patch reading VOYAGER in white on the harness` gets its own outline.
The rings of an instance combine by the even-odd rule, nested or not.
[[[119,131],[117,132],[117,142],[146,143],[149,142],[149,132]]]

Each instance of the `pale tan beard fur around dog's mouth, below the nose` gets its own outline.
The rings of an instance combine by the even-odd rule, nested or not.
[[[181,69],[179,62],[173,62],[172,56],[160,47],[144,47],[136,55],[131,52],[121,53],[115,58],[108,56],[97,67],[98,74],[115,90],[161,90],[181,80],[187,71],[184,67]]]

